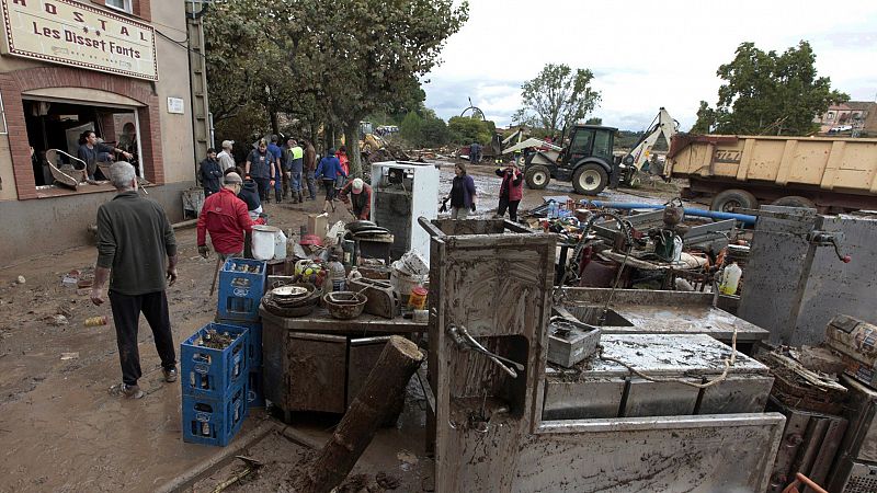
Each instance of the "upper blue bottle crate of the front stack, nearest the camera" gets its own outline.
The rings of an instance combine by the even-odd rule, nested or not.
[[[238,337],[224,349],[196,345],[209,330]],[[180,345],[180,385],[183,395],[225,399],[228,391],[247,380],[249,329],[225,323],[208,323]]]

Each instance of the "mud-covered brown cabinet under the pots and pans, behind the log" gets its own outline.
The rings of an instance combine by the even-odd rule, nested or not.
[[[389,335],[425,332],[425,323],[362,314],[337,320],[323,308],[283,318],[260,308],[265,398],[287,413],[344,413]]]

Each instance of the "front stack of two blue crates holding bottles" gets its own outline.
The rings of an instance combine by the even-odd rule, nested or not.
[[[248,342],[246,328],[208,323],[181,344],[184,442],[225,447],[240,431],[249,414]]]

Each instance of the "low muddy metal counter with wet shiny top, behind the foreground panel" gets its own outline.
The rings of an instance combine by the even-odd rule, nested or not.
[[[603,334],[606,357],[647,376],[698,382],[719,377],[731,348],[708,335]],[[596,356],[574,368],[549,366],[543,419],[674,416],[762,412],[773,385],[770,370],[737,353],[722,381],[705,389],[650,381]]]

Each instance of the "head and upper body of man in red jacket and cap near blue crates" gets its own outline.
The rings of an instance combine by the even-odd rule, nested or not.
[[[243,254],[243,234],[252,231],[253,221],[247,211],[247,204],[238,198],[242,186],[243,180],[238,173],[228,173],[223,190],[204,200],[197,233],[201,256],[206,259],[209,252],[207,232],[220,261]]]

